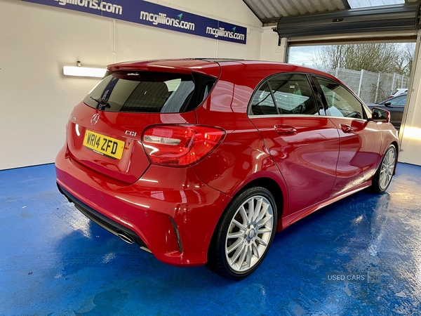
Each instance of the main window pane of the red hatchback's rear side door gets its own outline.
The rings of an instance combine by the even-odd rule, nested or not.
[[[319,114],[305,74],[280,74],[268,82],[279,114]]]

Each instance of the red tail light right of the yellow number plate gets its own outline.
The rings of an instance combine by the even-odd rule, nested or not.
[[[143,132],[142,144],[152,164],[189,166],[206,157],[225,131],[199,125],[155,125]]]

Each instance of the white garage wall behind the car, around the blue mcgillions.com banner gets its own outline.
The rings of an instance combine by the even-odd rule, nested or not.
[[[0,0],[0,170],[53,162],[65,143],[72,108],[98,79],[65,77],[64,65],[76,60],[105,67],[149,58],[260,58],[261,23],[243,1],[153,2],[248,27],[247,44]]]

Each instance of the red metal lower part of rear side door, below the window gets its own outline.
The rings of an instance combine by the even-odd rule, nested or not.
[[[290,215],[327,199],[335,182],[339,154],[338,130],[328,117],[251,120],[286,180],[289,204],[283,213]],[[293,126],[296,132],[279,132],[277,126]]]

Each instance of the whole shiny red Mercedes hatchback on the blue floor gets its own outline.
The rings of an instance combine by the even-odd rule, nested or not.
[[[276,231],[394,175],[389,112],[329,74],[204,59],[107,69],[70,115],[58,188],[164,263],[243,279]]]

